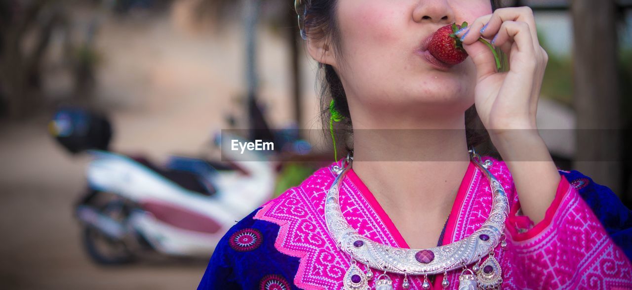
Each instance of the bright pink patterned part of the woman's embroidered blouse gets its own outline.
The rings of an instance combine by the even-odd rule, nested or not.
[[[516,215],[520,200],[506,164],[493,157],[483,157],[483,160],[486,159],[492,160],[489,171],[502,184],[511,208],[506,221],[507,246],[504,250],[498,246],[494,252],[502,269],[502,289],[632,289],[631,263],[563,174],[544,221],[532,225],[528,217]],[[262,222],[278,226],[278,230],[274,230],[277,232],[270,238],[274,241],[267,241],[269,247],[274,247],[274,251],[297,264],[295,274],[265,276],[276,280],[265,280],[268,282],[260,284],[262,289],[283,289],[266,285],[293,289],[343,289],[349,257],[337,250],[324,219],[325,195],[335,178],[330,168],[320,168],[300,186],[289,189],[253,213],[253,228]],[[339,201],[344,217],[360,234],[386,245],[409,248],[353,169],[343,180]],[[459,241],[477,230],[487,219],[491,205],[489,181],[470,162],[441,244]],[[260,238],[265,239],[265,233]],[[228,251],[217,255],[222,257],[214,255],[215,260],[223,262],[216,264],[223,265],[231,263],[231,260],[234,262],[235,258],[231,255],[239,254]],[[275,259],[276,262],[268,264],[283,263],[279,261],[283,258]],[[366,270],[364,265],[358,265]],[[380,274],[375,269],[373,271],[376,277]],[[450,289],[458,288],[460,272],[447,272]],[[389,274],[389,277],[394,289],[402,289],[403,275]],[[286,284],[269,282],[280,279],[285,279]],[[410,289],[422,289],[423,276],[408,276],[408,279]],[[432,288],[442,289],[442,279],[443,274],[438,274]],[[375,280],[369,281],[370,287],[374,287]]]

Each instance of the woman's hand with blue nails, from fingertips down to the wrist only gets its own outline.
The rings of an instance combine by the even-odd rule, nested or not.
[[[514,129],[536,129],[542,78],[549,56],[540,47],[528,7],[500,8],[480,16],[461,32],[463,48],[477,69],[475,106],[490,135]],[[485,27],[481,33],[480,30]],[[496,71],[494,55],[479,37],[494,39],[509,59],[509,71]]]

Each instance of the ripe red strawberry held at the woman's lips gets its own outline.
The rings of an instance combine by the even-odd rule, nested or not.
[[[463,22],[463,27],[467,27],[467,25],[468,23]],[[439,28],[428,44],[430,54],[447,64],[463,63],[468,57],[468,53],[463,49],[459,37],[454,35],[460,28],[456,23]]]

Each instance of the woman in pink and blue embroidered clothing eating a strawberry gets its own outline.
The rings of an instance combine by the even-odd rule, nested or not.
[[[559,171],[537,134],[547,54],[530,9],[303,5],[301,34],[324,70],[332,119],[353,129],[353,156],[231,228],[199,289],[632,289],[632,266],[608,235],[618,229],[582,199],[612,192]],[[427,61],[425,40],[463,21],[470,57]],[[496,71],[479,37],[494,39],[509,71]],[[471,112],[504,161],[468,151]]]

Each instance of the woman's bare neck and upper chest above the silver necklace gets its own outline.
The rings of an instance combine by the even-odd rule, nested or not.
[[[445,219],[470,162],[463,111],[394,116],[392,122],[382,115],[379,124],[358,115],[353,116],[353,171],[382,207],[405,214],[423,205],[428,214]]]

